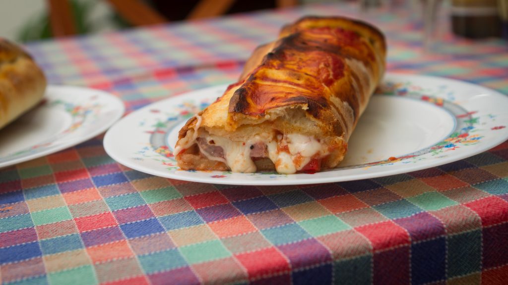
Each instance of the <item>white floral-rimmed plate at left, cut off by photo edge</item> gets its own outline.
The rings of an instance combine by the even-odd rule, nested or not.
[[[117,97],[75,86],[48,86],[41,104],[0,129],[0,167],[39,158],[88,140],[123,115]]]

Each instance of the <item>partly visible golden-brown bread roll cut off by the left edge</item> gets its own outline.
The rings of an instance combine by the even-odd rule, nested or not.
[[[0,128],[33,108],[45,88],[44,73],[31,56],[0,39]]]

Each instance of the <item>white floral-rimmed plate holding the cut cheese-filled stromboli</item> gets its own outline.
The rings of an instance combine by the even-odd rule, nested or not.
[[[222,95],[215,86],[150,104],[117,122],[104,147],[133,169],[231,185],[295,185],[368,179],[457,161],[508,139],[508,97],[456,80],[388,74],[360,118],[340,167],[314,174],[184,171],[171,154],[185,121]]]

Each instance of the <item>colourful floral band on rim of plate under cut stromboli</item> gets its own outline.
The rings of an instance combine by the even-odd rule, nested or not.
[[[219,94],[220,96],[221,94]],[[351,169],[351,168],[363,168],[368,169],[373,166],[384,166],[393,165],[395,163],[416,163],[418,161],[429,159],[429,158],[444,158],[447,157],[447,153],[456,149],[467,147],[475,144],[479,144],[484,138],[484,129],[481,129],[481,119],[495,120],[496,115],[488,114],[485,116],[475,116],[477,111],[466,111],[462,106],[455,103],[455,94],[447,85],[438,86],[437,90],[430,88],[423,88],[421,86],[412,84],[411,82],[385,82],[380,86],[374,95],[386,95],[386,96],[404,96],[411,99],[422,100],[432,104],[435,104],[439,108],[446,109],[457,120],[454,131],[442,141],[437,144],[422,149],[413,153],[398,157],[389,157],[385,160],[379,160],[370,163],[337,167],[327,171],[334,171],[340,169]],[[201,102],[194,102],[193,100],[185,100],[183,103],[175,107],[175,112],[162,112],[160,110],[150,110],[151,113],[161,114],[156,118],[155,122],[149,123],[146,120],[139,123],[140,126],[146,127],[145,132],[150,134],[150,142],[146,146],[142,147],[135,153],[134,160],[152,159],[160,162],[166,166],[167,170],[170,171],[187,171],[187,172],[198,172],[196,170],[181,170],[171,152],[172,147],[167,145],[167,137],[169,132],[182,121],[188,120],[203,110],[211,102],[203,100]],[[491,130],[502,129],[505,126],[496,126]],[[199,171],[208,172],[208,171]],[[209,171],[212,172],[212,171]],[[212,178],[226,178],[232,174],[231,171],[223,171],[221,174],[213,173],[210,175]],[[288,174],[281,174],[275,171],[271,172],[256,172],[247,173],[248,175],[264,177],[280,177],[288,176]],[[309,173],[312,174],[312,173]]]

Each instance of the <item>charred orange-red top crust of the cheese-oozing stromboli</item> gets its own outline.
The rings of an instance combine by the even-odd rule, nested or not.
[[[281,34],[286,36],[231,97],[228,110],[231,118],[254,120],[272,109],[301,105],[308,115],[323,123],[327,134],[342,135],[348,130],[326,128],[350,125],[344,122],[340,110],[335,116],[330,112],[336,108],[333,99],[351,107],[355,125],[364,109],[360,107],[366,105],[365,97],[370,96],[382,77],[384,66],[378,63],[384,62],[379,58],[386,53],[383,35],[360,21],[319,17],[303,18],[284,27]],[[258,50],[266,50],[266,46],[270,45]],[[257,51],[254,55],[259,58]],[[351,62],[360,62],[367,70],[360,70]],[[367,75],[362,74],[366,72]],[[362,77],[374,78],[369,90],[354,89],[354,86],[365,88]]]

